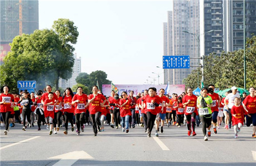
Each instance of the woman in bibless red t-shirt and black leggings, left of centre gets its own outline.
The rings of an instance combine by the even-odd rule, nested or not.
[[[103,106],[106,102],[106,98],[98,94],[98,87],[93,86],[92,87],[93,94],[88,96],[88,102],[90,104],[89,106],[89,112],[90,112],[90,118],[92,121],[93,125],[93,132],[94,136],[97,136],[98,130],[100,130],[100,115],[101,115],[101,106]],[[103,102],[101,102],[103,100]],[[97,124],[96,124],[97,123]],[[97,125],[98,125],[98,130],[97,130]]]

